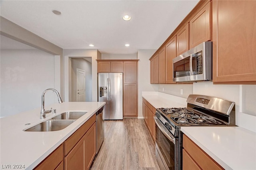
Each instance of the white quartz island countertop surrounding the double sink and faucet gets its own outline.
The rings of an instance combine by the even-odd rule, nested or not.
[[[56,109],[56,114],[46,114],[44,120],[40,119],[40,108],[22,112],[13,116],[0,119],[0,164],[1,169],[14,164],[24,165],[25,169],[33,169],[82,124],[84,124],[94,113],[96,113],[106,102],[63,102],[46,106]],[[68,127],[53,132],[25,132],[26,128],[32,127],[42,121],[66,111],[87,112]],[[30,123],[30,125],[25,125]],[[24,168],[23,168],[24,169]]]

